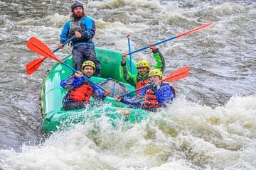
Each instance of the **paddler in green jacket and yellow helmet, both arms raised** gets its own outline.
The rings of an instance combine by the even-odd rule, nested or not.
[[[153,58],[156,61],[156,64],[154,65],[153,69],[160,69],[161,72],[164,72],[165,69],[165,61],[164,57],[159,52],[159,49],[156,48],[154,45],[149,45],[149,48],[153,52]],[[136,89],[139,89],[142,86],[146,86],[149,83],[149,69],[150,64],[146,60],[140,60],[137,62],[137,70],[138,74],[131,74],[127,67],[126,67],[126,59],[127,53],[122,54],[122,62],[120,66],[120,75],[123,75],[124,79],[131,84],[132,86],[135,86]],[[137,94],[139,94],[140,91],[137,91]]]

